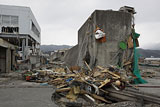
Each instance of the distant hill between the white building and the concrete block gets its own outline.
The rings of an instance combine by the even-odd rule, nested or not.
[[[71,48],[69,45],[41,45],[40,50],[44,53],[52,52],[54,50]]]

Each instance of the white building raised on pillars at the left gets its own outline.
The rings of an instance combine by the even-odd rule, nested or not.
[[[0,37],[19,46],[23,60],[39,53],[41,29],[29,7],[0,5]]]

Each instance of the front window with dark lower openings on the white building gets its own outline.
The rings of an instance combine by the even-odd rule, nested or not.
[[[18,33],[18,16],[0,15],[2,33]]]

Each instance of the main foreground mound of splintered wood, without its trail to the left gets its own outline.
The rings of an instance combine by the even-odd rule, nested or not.
[[[73,68],[78,67],[75,66]],[[65,76],[53,76],[57,78],[50,81],[51,84],[57,86],[52,99],[65,105],[78,103],[81,106],[86,106],[88,104],[113,103],[115,101],[108,97],[106,89],[123,90],[126,84],[132,82],[132,79],[128,78],[129,76],[126,75],[124,69],[115,66],[107,68],[97,66],[93,70],[88,66],[88,70],[81,68],[79,70],[69,70],[69,72]],[[85,101],[80,102],[79,99]]]

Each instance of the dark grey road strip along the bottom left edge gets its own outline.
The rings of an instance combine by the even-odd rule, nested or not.
[[[0,107],[57,107],[53,88],[0,88]]]

